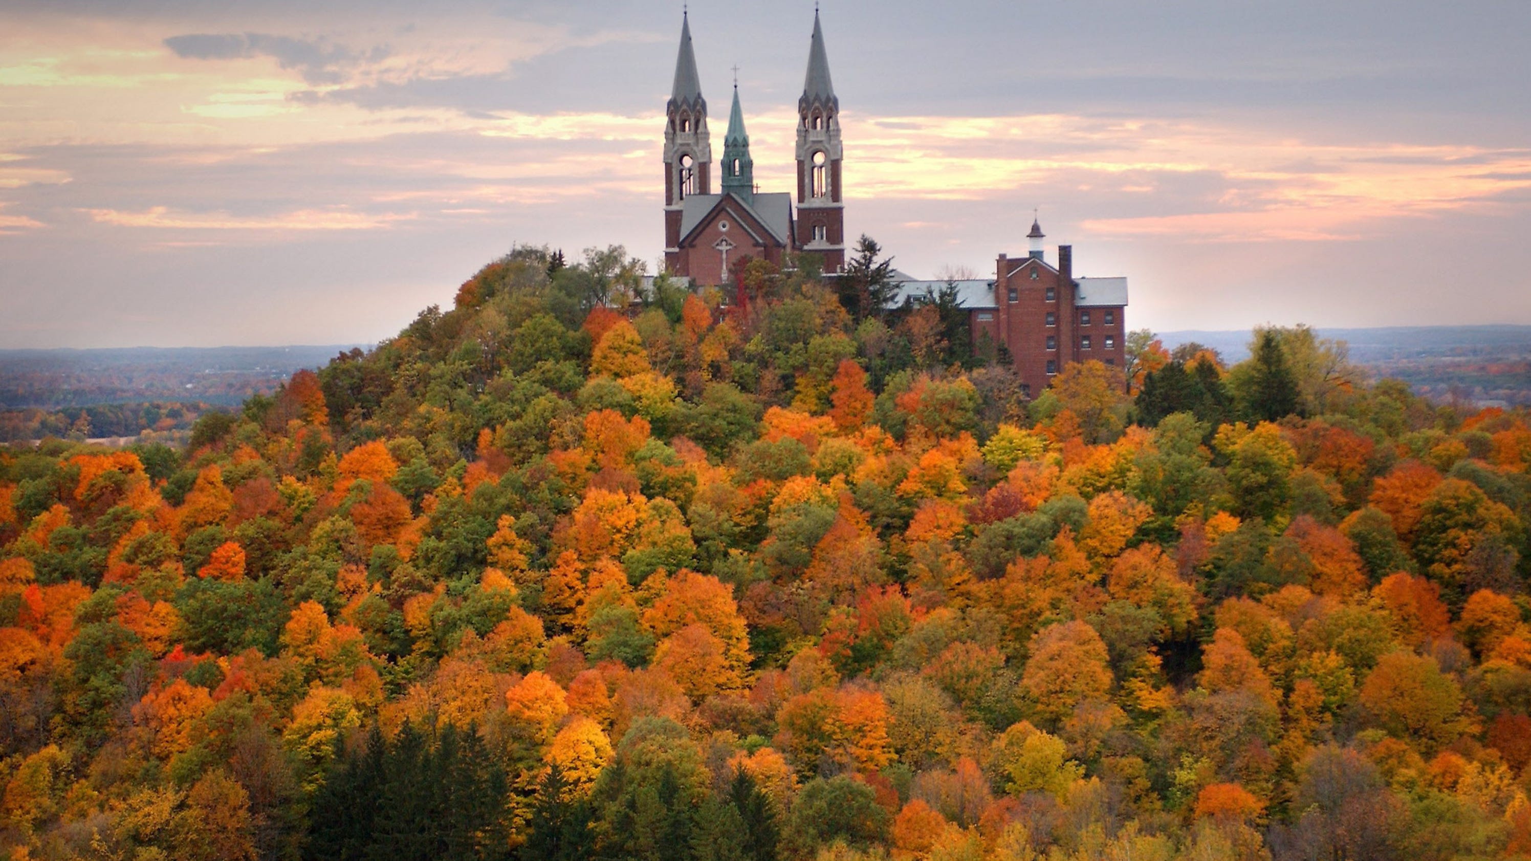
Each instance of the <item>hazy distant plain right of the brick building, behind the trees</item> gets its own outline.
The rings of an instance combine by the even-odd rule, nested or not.
[[[1317,329],[1350,345],[1350,360],[1421,395],[1484,406],[1531,404],[1531,326],[1390,326]],[[1159,332],[1165,346],[1197,342],[1226,362],[1249,355],[1248,331]]]

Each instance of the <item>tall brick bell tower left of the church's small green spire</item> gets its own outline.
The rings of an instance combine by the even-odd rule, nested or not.
[[[712,192],[710,167],[707,100],[701,98],[697,54],[690,46],[690,20],[681,12],[675,84],[664,106],[664,262],[672,268],[680,256],[683,202],[692,195]]]

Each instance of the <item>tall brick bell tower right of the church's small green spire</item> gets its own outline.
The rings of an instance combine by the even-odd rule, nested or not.
[[[808,75],[798,100],[798,225],[799,251],[824,259],[825,273],[845,268],[845,199],[841,193],[841,100],[830,83],[819,11],[813,11]]]

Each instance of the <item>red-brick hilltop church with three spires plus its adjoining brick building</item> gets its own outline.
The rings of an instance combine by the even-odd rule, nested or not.
[[[841,187],[841,101],[830,81],[819,12],[813,14],[808,70],[798,98],[798,182],[793,192],[755,185],[750,136],[739,87],[733,86],[729,127],[712,190],[712,133],[701,95],[689,15],[681,15],[675,83],[664,106],[664,267],[694,285],[726,285],[741,260],[778,267],[814,254],[822,271],[845,271],[845,196]],[[1023,222],[1024,224],[1024,222]],[[994,279],[917,280],[896,273],[896,302],[922,302],[957,288],[974,345],[992,345],[1014,363],[1023,386],[1040,394],[1073,362],[1124,366],[1127,279],[1073,274],[1073,248],[1059,245],[1049,262],[1043,230],[1032,219],[1023,257],[1000,254]]]

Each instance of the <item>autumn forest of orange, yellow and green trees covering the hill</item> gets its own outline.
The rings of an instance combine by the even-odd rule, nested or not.
[[[1531,415],[1303,326],[1027,398],[863,257],[517,248],[185,449],[0,449],[0,852],[1531,855]]]

